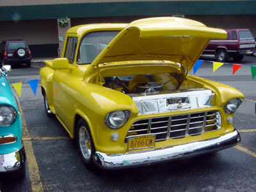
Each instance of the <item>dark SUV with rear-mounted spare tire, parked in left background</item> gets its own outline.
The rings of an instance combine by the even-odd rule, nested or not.
[[[0,66],[26,63],[31,65],[31,51],[24,40],[4,40],[0,44]]]

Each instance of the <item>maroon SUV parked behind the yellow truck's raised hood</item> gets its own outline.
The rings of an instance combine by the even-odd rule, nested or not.
[[[214,39],[207,45],[203,57],[216,58],[225,62],[229,58],[241,61],[246,54],[255,52],[255,39],[249,29],[225,29],[225,40]]]

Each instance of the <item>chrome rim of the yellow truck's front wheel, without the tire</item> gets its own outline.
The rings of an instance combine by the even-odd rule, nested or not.
[[[81,149],[81,153],[84,159],[90,161],[92,156],[92,144],[90,140],[90,134],[88,133],[86,127],[81,126],[79,128],[78,136],[79,136],[78,141],[79,141],[79,147]]]

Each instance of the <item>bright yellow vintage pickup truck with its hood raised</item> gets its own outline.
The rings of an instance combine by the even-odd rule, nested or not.
[[[188,74],[211,38],[226,36],[175,17],[70,28],[62,58],[40,69],[45,113],[76,139],[88,167],[127,168],[232,147],[240,141],[232,121],[243,93]]]

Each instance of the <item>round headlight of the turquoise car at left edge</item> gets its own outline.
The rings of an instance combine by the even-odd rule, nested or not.
[[[11,125],[16,118],[15,109],[10,106],[0,106],[0,126],[6,127]]]

